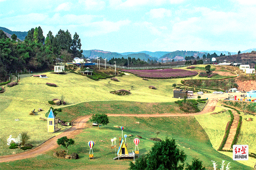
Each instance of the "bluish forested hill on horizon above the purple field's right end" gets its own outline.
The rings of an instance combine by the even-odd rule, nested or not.
[[[173,59],[177,56],[179,56],[181,58],[182,57],[185,58],[185,56],[199,56],[200,58],[202,58],[203,54],[207,55],[207,53],[205,53],[205,52],[198,52],[198,51],[174,51],[174,52],[170,52],[168,54],[161,56],[159,58],[159,60],[167,58],[167,57],[169,59]]]

